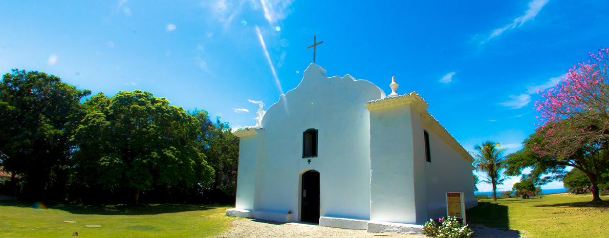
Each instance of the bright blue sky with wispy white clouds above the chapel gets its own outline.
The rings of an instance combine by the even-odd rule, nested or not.
[[[466,150],[490,139],[511,153],[535,130],[535,91],[609,45],[607,12],[600,0],[3,1],[0,72],[150,91],[239,128],[256,124],[252,102],[267,109],[298,85],[317,35],[328,75],[387,94],[395,76]]]

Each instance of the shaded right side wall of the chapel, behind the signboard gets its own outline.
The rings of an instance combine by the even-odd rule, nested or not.
[[[431,128],[429,133],[431,163],[425,164],[429,218],[446,216],[446,192],[463,192],[466,209],[477,205],[471,163],[452,149]]]

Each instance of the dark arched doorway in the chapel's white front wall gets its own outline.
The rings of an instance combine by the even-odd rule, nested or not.
[[[319,223],[319,172],[309,170],[302,176],[300,221]]]

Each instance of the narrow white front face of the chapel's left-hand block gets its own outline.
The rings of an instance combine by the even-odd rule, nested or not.
[[[255,201],[258,136],[245,136],[239,141],[239,167],[235,208],[253,210]]]

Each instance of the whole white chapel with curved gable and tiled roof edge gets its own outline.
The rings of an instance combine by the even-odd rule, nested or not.
[[[388,82],[389,83],[389,82]],[[446,215],[446,193],[477,205],[462,145],[417,93],[392,94],[311,64],[239,144],[236,208],[227,215],[277,222],[420,232]]]

